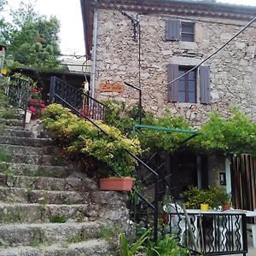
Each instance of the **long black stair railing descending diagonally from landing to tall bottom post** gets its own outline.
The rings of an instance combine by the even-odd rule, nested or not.
[[[79,117],[83,117],[84,119],[87,119],[88,121],[90,121],[91,124],[95,125],[96,128],[99,129],[99,131],[102,131],[106,136],[110,137],[107,131],[103,130],[101,126],[96,124],[96,122],[93,119],[94,115],[90,116],[86,113],[81,112],[81,109],[83,109],[82,108],[83,101],[84,101],[83,93],[78,91],[73,86],[70,86],[69,84],[61,81],[60,79],[57,79],[55,77],[51,78],[49,103],[56,102],[66,108],[69,108],[73,113],[77,114]],[[93,101],[97,102],[95,99],[93,99]],[[104,105],[102,104],[101,106],[104,106]],[[105,108],[104,108],[104,116],[105,116]],[[156,244],[158,239],[158,217],[159,217],[159,212],[158,212],[159,175],[157,172],[154,172],[154,170],[151,167],[149,167],[146,163],[144,163],[143,160],[139,159],[135,154],[133,154],[130,150],[126,148],[124,148],[124,150],[127,154],[131,155],[132,158],[137,160],[138,165],[142,165],[143,168],[148,170],[148,172],[150,172],[151,175],[154,177],[154,195],[155,195],[154,202],[148,201],[147,198],[144,195],[142,195],[139,191],[137,191],[136,189],[134,190],[137,193],[137,195],[147,204],[147,206],[153,212],[152,215],[153,215],[153,222],[154,222],[154,242]]]

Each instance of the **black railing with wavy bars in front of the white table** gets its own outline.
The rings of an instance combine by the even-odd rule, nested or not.
[[[163,233],[170,234],[181,246],[189,248],[195,254],[246,255],[246,214],[189,211],[188,218],[180,211],[165,213],[166,225],[163,227]]]

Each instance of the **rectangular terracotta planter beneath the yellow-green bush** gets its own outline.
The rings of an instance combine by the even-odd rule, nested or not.
[[[105,191],[131,191],[133,177],[100,178],[100,189]]]

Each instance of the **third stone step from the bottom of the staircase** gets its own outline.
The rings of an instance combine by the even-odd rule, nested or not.
[[[6,204],[0,203],[1,224],[31,224],[55,222],[88,222],[96,220],[95,207],[84,204]]]

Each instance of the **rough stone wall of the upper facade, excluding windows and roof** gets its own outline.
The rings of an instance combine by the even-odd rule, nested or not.
[[[136,17],[136,13],[129,13]],[[163,15],[139,15],[141,25],[141,67],[139,44],[132,40],[131,20],[115,10],[99,11],[96,50],[96,88],[99,83],[124,81],[141,86],[143,107],[160,115],[168,108],[200,125],[207,113],[218,110],[227,115],[228,109],[237,106],[255,120],[256,114],[256,28],[249,27],[204,65],[211,71],[211,96],[209,105],[200,103],[167,102],[167,65],[170,63],[193,66],[205,59],[230,39],[242,20],[224,20],[207,17],[196,19],[195,42],[166,42]],[[181,19],[182,20],[182,19]],[[212,22],[213,21],[213,22]],[[218,22],[218,23],[216,23]],[[255,26],[255,25],[254,25]],[[140,81],[139,81],[140,70]],[[139,83],[140,82],[140,83]],[[125,87],[125,93],[100,93],[96,97],[114,98],[135,103],[137,91]]]

